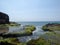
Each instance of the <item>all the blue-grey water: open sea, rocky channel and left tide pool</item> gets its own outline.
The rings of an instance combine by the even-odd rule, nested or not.
[[[46,32],[42,30],[42,26],[48,24],[48,23],[60,23],[60,21],[39,21],[39,22],[16,22],[18,24],[21,24],[21,26],[17,27],[7,27],[4,28],[3,30],[0,30],[0,32],[23,32],[23,28],[25,25],[34,25],[36,27],[36,30],[32,32],[32,35],[30,36],[22,36],[22,37],[17,37],[17,39],[20,42],[28,42],[29,40],[32,39],[38,39],[41,35],[45,34]]]

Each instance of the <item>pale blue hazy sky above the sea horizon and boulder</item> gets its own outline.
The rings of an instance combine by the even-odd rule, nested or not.
[[[10,21],[60,21],[60,0],[0,0]]]

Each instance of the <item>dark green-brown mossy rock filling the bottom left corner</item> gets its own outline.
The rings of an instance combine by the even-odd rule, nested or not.
[[[21,43],[17,38],[0,38],[0,44],[3,45],[26,45],[25,43]]]

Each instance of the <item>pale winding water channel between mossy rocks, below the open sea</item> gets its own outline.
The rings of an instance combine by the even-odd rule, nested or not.
[[[33,31],[33,34],[31,36],[18,37],[19,41],[28,42],[32,39],[38,39],[41,35],[45,34],[45,32],[41,28],[42,26],[36,26],[36,30]]]

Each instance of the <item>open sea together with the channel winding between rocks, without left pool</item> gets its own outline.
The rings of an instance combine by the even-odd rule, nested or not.
[[[21,42],[28,42],[32,39],[38,39],[41,35],[45,34],[42,30],[42,26],[48,23],[60,23],[60,21],[45,21],[45,22],[18,22],[21,25],[34,25],[36,27],[36,30],[33,31],[33,34],[31,36],[24,36],[24,37],[18,37],[19,41]]]

